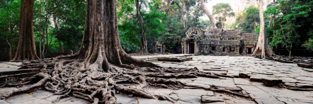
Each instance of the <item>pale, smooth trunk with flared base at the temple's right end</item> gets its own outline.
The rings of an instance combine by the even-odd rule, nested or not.
[[[260,33],[259,40],[255,47],[253,54],[259,54],[262,58],[269,57],[275,55],[273,51],[269,48],[269,44],[266,39],[265,34],[265,24],[264,24],[264,15],[263,15],[263,0],[259,0],[260,2]]]

